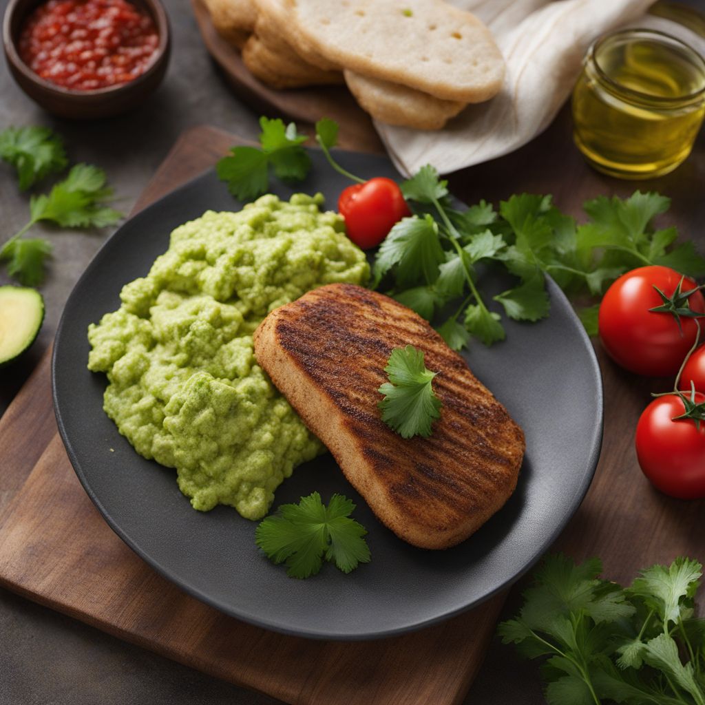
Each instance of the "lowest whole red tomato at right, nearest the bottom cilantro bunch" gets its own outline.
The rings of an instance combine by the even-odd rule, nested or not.
[[[696,393],[696,403],[705,394]],[[680,499],[705,497],[705,422],[678,419],[685,411],[675,394],[658,397],[637,424],[637,458],[642,471],[665,494]]]

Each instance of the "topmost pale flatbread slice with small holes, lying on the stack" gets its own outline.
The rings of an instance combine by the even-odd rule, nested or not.
[[[501,89],[504,60],[491,33],[443,0],[264,1],[289,8],[279,29],[302,56],[452,101],[482,102]]]

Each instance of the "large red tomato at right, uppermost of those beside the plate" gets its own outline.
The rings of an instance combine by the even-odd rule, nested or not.
[[[642,266],[628,271],[608,288],[600,305],[600,339],[605,350],[622,367],[649,376],[675,375],[697,336],[692,318],[681,317],[683,332],[670,313],[649,309],[663,300],[654,286],[673,295],[681,275],[666,266]],[[689,278],[682,291],[696,288]],[[703,295],[696,291],[688,298],[690,307],[705,312]]]

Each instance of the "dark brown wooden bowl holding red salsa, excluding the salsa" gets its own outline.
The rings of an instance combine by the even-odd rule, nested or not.
[[[130,0],[149,13],[159,34],[152,64],[145,73],[126,83],[97,90],[70,90],[40,78],[20,59],[18,39],[25,18],[44,0],[10,0],[3,20],[5,56],[13,78],[35,102],[63,118],[104,118],[128,111],[151,94],[164,78],[171,49],[171,32],[166,11],[159,0]]]

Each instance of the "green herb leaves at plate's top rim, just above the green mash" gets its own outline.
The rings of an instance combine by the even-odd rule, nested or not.
[[[283,181],[300,181],[311,168],[311,159],[301,146],[306,135],[299,135],[296,125],[259,118],[262,133],[257,147],[233,147],[232,157],[223,157],[216,165],[221,181],[240,201],[249,201],[269,190],[269,168]]]

